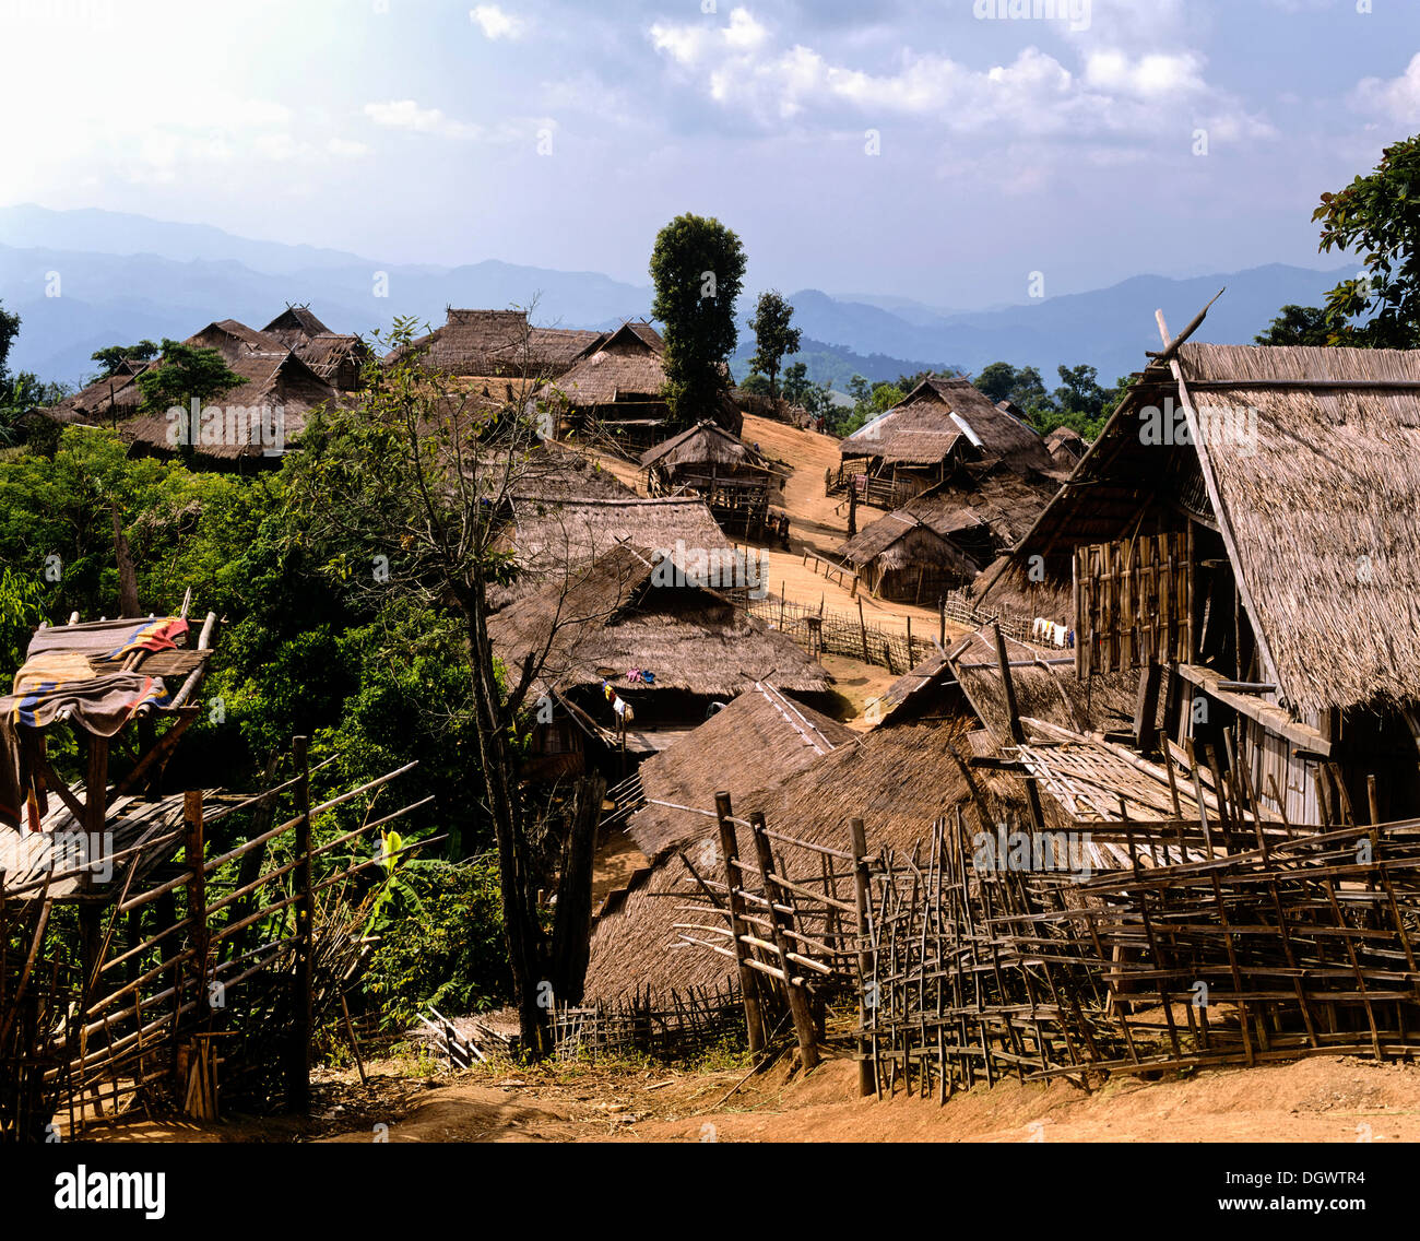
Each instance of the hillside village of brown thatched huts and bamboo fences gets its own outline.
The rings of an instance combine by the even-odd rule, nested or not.
[[[210,400],[190,420],[153,410],[156,356],[28,425],[237,486],[288,457],[338,483],[332,427],[379,432],[381,402],[408,400],[412,460],[457,454],[440,486],[506,565],[469,612],[520,738],[506,788],[545,816],[500,865],[555,922],[557,981],[531,1018],[525,997],[420,1011],[426,1054],[453,1069],[527,1052],[530,1019],[561,1056],[674,1061],[728,1039],[761,1068],[828,1058],[853,1066],[845,1102],[1409,1061],[1420,362],[1194,344],[1203,321],[1170,335],[1160,315],[1093,443],[1042,436],[957,375],[841,440],[727,375],[684,417],[649,322],[450,308],[381,351],[300,304],[169,342],[230,369],[216,420]],[[116,510],[114,531],[116,618],[41,623],[6,699],[0,917],[24,948],[0,991],[7,1135],[57,1113],[102,1127],[173,1082],[197,1120],[308,1108],[317,1032],[359,1058],[356,1027],[382,1027],[351,991],[368,902],[406,851],[446,839],[385,829],[437,824],[413,792],[351,816],[415,762],[312,808],[304,738],[250,792],[193,785],[179,738],[224,622],[196,632],[190,585],[139,598],[139,535]],[[78,780],[60,774],[70,754]],[[60,853],[99,836],[119,851],[106,878]],[[322,904],[375,878],[328,852],[355,838],[383,886]],[[92,980],[78,990],[58,964],[33,971],[64,960],[47,936],[64,909]]]

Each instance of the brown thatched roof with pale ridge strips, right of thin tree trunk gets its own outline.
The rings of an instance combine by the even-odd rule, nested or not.
[[[628,819],[626,832],[648,858],[657,858],[701,832],[701,825],[676,807],[713,808],[720,789],[772,784],[856,738],[836,720],[757,682],[640,765],[648,804]]]

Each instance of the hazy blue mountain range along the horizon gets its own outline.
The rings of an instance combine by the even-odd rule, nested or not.
[[[799,356],[809,378],[831,379],[839,390],[853,373],[895,379],[949,366],[973,373],[995,361],[1037,366],[1048,386],[1056,366],[1088,362],[1109,383],[1139,369],[1145,351],[1159,346],[1156,310],[1177,329],[1227,287],[1196,339],[1248,344],[1282,305],[1318,304],[1353,266],[1269,264],[1186,280],[1137,275],[1109,288],[974,311],[815,288],[788,298],[804,332]],[[23,319],[11,369],[68,383],[95,369],[95,349],[182,338],[223,318],[261,327],[288,302],[308,304],[332,331],[368,334],[388,331],[396,317],[436,327],[449,305],[531,305],[538,324],[608,328],[649,314],[650,301],[649,284],[595,271],[497,260],[392,264],[145,216],[0,207],[0,304]],[[744,297],[743,317],[750,307],[753,298]],[[731,363],[737,375],[750,354],[753,338],[741,332]]]

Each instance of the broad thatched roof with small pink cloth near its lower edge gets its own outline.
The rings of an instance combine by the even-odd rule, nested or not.
[[[542,682],[557,690],[599,686],[629,669],[655,673],[638,693],[730,697],[761,680],[795,693],[825,693],[831,684],[787,635],[707,586],[677,581],[645,545],[622,544],[591,565],[567,568],[491,616],[488,633],[510,666],[547,650]]]

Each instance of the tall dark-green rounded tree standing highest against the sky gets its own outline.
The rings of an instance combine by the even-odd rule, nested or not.
[[[680,422],[713,417],[728,383],[744,248],[724,224],[677,216],[656,237],[652,314],[665,327],[666,400]]]

